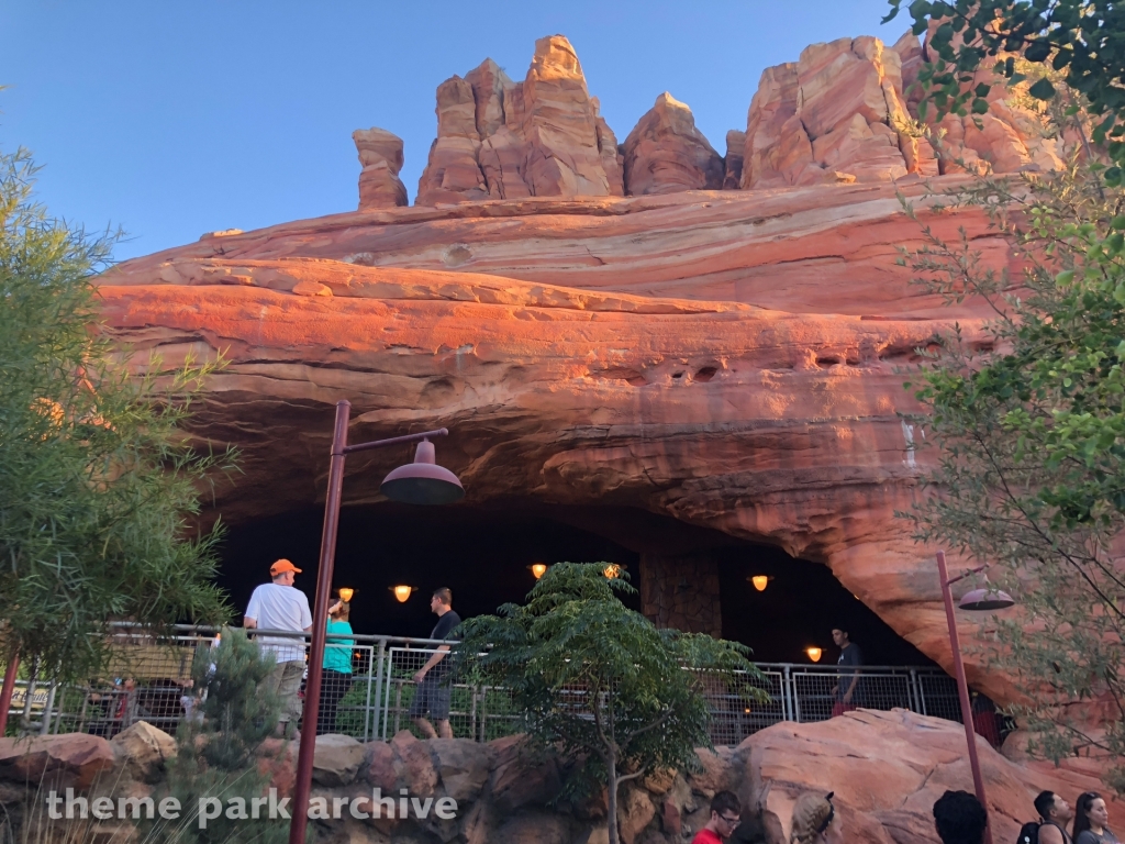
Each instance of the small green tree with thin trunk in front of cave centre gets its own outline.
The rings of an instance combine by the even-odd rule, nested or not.
[[[634,590],[604,575],[605,563],[559,563],[524,605],[462,622],[457,658],[512,690],[528,731],[582,764],[572,793],[608,789],[610,842],[616,844],[618,788],[657,767],[690,770],[710,746],[704,691],[714,672],[762,679],[741,645],[702,634],[658,630],[616,593]]]

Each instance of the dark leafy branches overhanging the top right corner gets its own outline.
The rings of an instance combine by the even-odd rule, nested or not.
[[[893,19],[903,0],[888,0]],[[1095,119],[1094,142],[1106,145],[1115,165],[1106,171],[1109,185],[1122,181],[1125,163],[1125,7],[1114,0],[951,0],[909,3],[914,33],[930,20],[940,24],[927,42],[929,63],[918,74],[927,100],[938,114],[962,117],[988,110],[991,79],[979,69],[996,63],[1008,84],[1026,78],[1019,59],[1062,74],[1081,95]],[[1036,74],[1029,95],[1051,100],[1056,90],[1051,74]],[[919,106],[925,114],[925,101]],[[1078,106],[1071,107],[1072,111]]]

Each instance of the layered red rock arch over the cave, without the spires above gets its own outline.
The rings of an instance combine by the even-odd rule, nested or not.
[[[929,222],[1007,261],[982,217]],[[226,350],[201,424],[243,454],[230,521],[317,500],[348,397],[356,437],[450,428],[470,504],[612,501],[778,545],[947,662],[932,560],[893,515],[915,483],[899,368],[978,312],[907,285],[896,249],[917,236],[889,185],[524,199],[276,226],[222,258],[195,243],[101,291],[122,339],[169,363]],[[346,501],[377,500],[381,467]]]

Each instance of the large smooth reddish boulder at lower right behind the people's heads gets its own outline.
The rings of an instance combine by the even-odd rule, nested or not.
[[[1090,767],[1006,758],[983,738],[976,753],[984,776],[992,838],[1015,841],[1035,816],[1032,800],[1050,789],[1068,800],[1105,791]],[[934,842],[934,801],[947,789],[972,791],[960,724],[904,709],[858,710],[817,724],[777,724],[739,745],[745,772],[739,797],[762,812],[770,844],[789,841],[793,803],[803,791],[835,792],[845,839],[872,844]],[[1125,824],[1112,802],[1110,826]]]

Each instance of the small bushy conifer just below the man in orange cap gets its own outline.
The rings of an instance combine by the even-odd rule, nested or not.
[[[288,839],[289,823],[280,814],[270,818],[267,808],[256,819],[252,817],[251,801],[267,796],[270,788],[268,770],[258,766],[259,752],[277,727],[281,709],[276,694],[258,689],[273,666],[272,656],[262,654],[237,629],[224,628],[222,644],[196,652],[191,676],[199,703],[192,717],[180,724],[179,752],[168,774],[168,794],[179,800],[183,811],[178,821],[153,824],[150,838],[176,844],[280,844]],[[278,755],[284,753],[281,747]],[[200,828],[198,809],[207,798],[218,800],[223,811]],[[228,817],[232,805],[232,815],[245,817]]]

